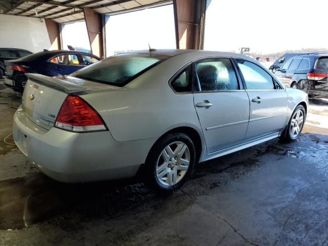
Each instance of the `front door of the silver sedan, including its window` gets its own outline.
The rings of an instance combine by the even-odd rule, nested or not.
[[[269,72],[248,60],[236,59],[250,100],[245,140],[280,131],[285,126],[288,95]]]

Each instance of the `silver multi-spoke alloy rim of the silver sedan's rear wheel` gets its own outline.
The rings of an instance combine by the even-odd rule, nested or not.
[[[187,173],[190,150],[180,141],[172,142],[160,153],[156,163],[156,177],[163,186],[174,186]]]

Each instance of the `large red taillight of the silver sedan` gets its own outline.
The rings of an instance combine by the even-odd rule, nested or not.
[[[107,130],[98,113],[76,95],[66,97],[58,112],[55,127],[74,132]]]

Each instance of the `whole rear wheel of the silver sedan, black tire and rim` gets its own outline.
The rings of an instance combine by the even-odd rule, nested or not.
[[[193,172],[196,150],[190,137],[171,133],[160,139],[146,160],[146,183],[161,191],[179,189]]]

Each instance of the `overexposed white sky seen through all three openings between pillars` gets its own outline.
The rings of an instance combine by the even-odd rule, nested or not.
[[[319,6],[319,8],[318,8]],[[328,48],[326,0],[212,0],[204,49],[271,53]],[[114,51],[175,48],[173,5],[107,17],[107,56]],[[90,49],[85,22],[65,25],[63,44]]]

